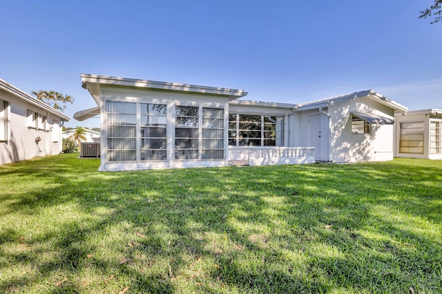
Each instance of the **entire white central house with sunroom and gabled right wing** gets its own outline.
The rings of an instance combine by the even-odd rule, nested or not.
[[[81,75],[101,117],[100,170],[393,159],[394,114],[373,90],[305,104],[244,101],[244,90]],[[316,155],[315,155],[316,153]]]

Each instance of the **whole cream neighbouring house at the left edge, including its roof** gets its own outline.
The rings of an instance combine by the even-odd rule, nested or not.
[[[70,117],[0,79],[0,164],[61,152]]]

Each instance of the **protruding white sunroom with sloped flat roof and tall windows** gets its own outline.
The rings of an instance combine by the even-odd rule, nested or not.
[[[229,101],[247,92],[97,75],[81,82],[100,110],[100,170],[227,165]]]

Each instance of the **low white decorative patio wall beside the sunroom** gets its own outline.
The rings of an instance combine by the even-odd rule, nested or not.
[[[250,166],[314,164],[314,147],[229,147],[229,161],[246,161]]]

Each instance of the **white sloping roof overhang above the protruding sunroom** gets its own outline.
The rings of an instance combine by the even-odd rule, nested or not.
[[[211,95],[228,96],[229,99],[244,97],[247,92],[229,88],[215,88],[197,86],[191,84],[178,84],[164,81],[148,81],[145,79],[128,79],[125,77],[109,77],[104,75],[81,74],[81,86],[90,92],[97,104],[99,104],[99,85],[126,86],[137,88],[149,88],[155,90],[169,90],[181,92],[195,92]]]

